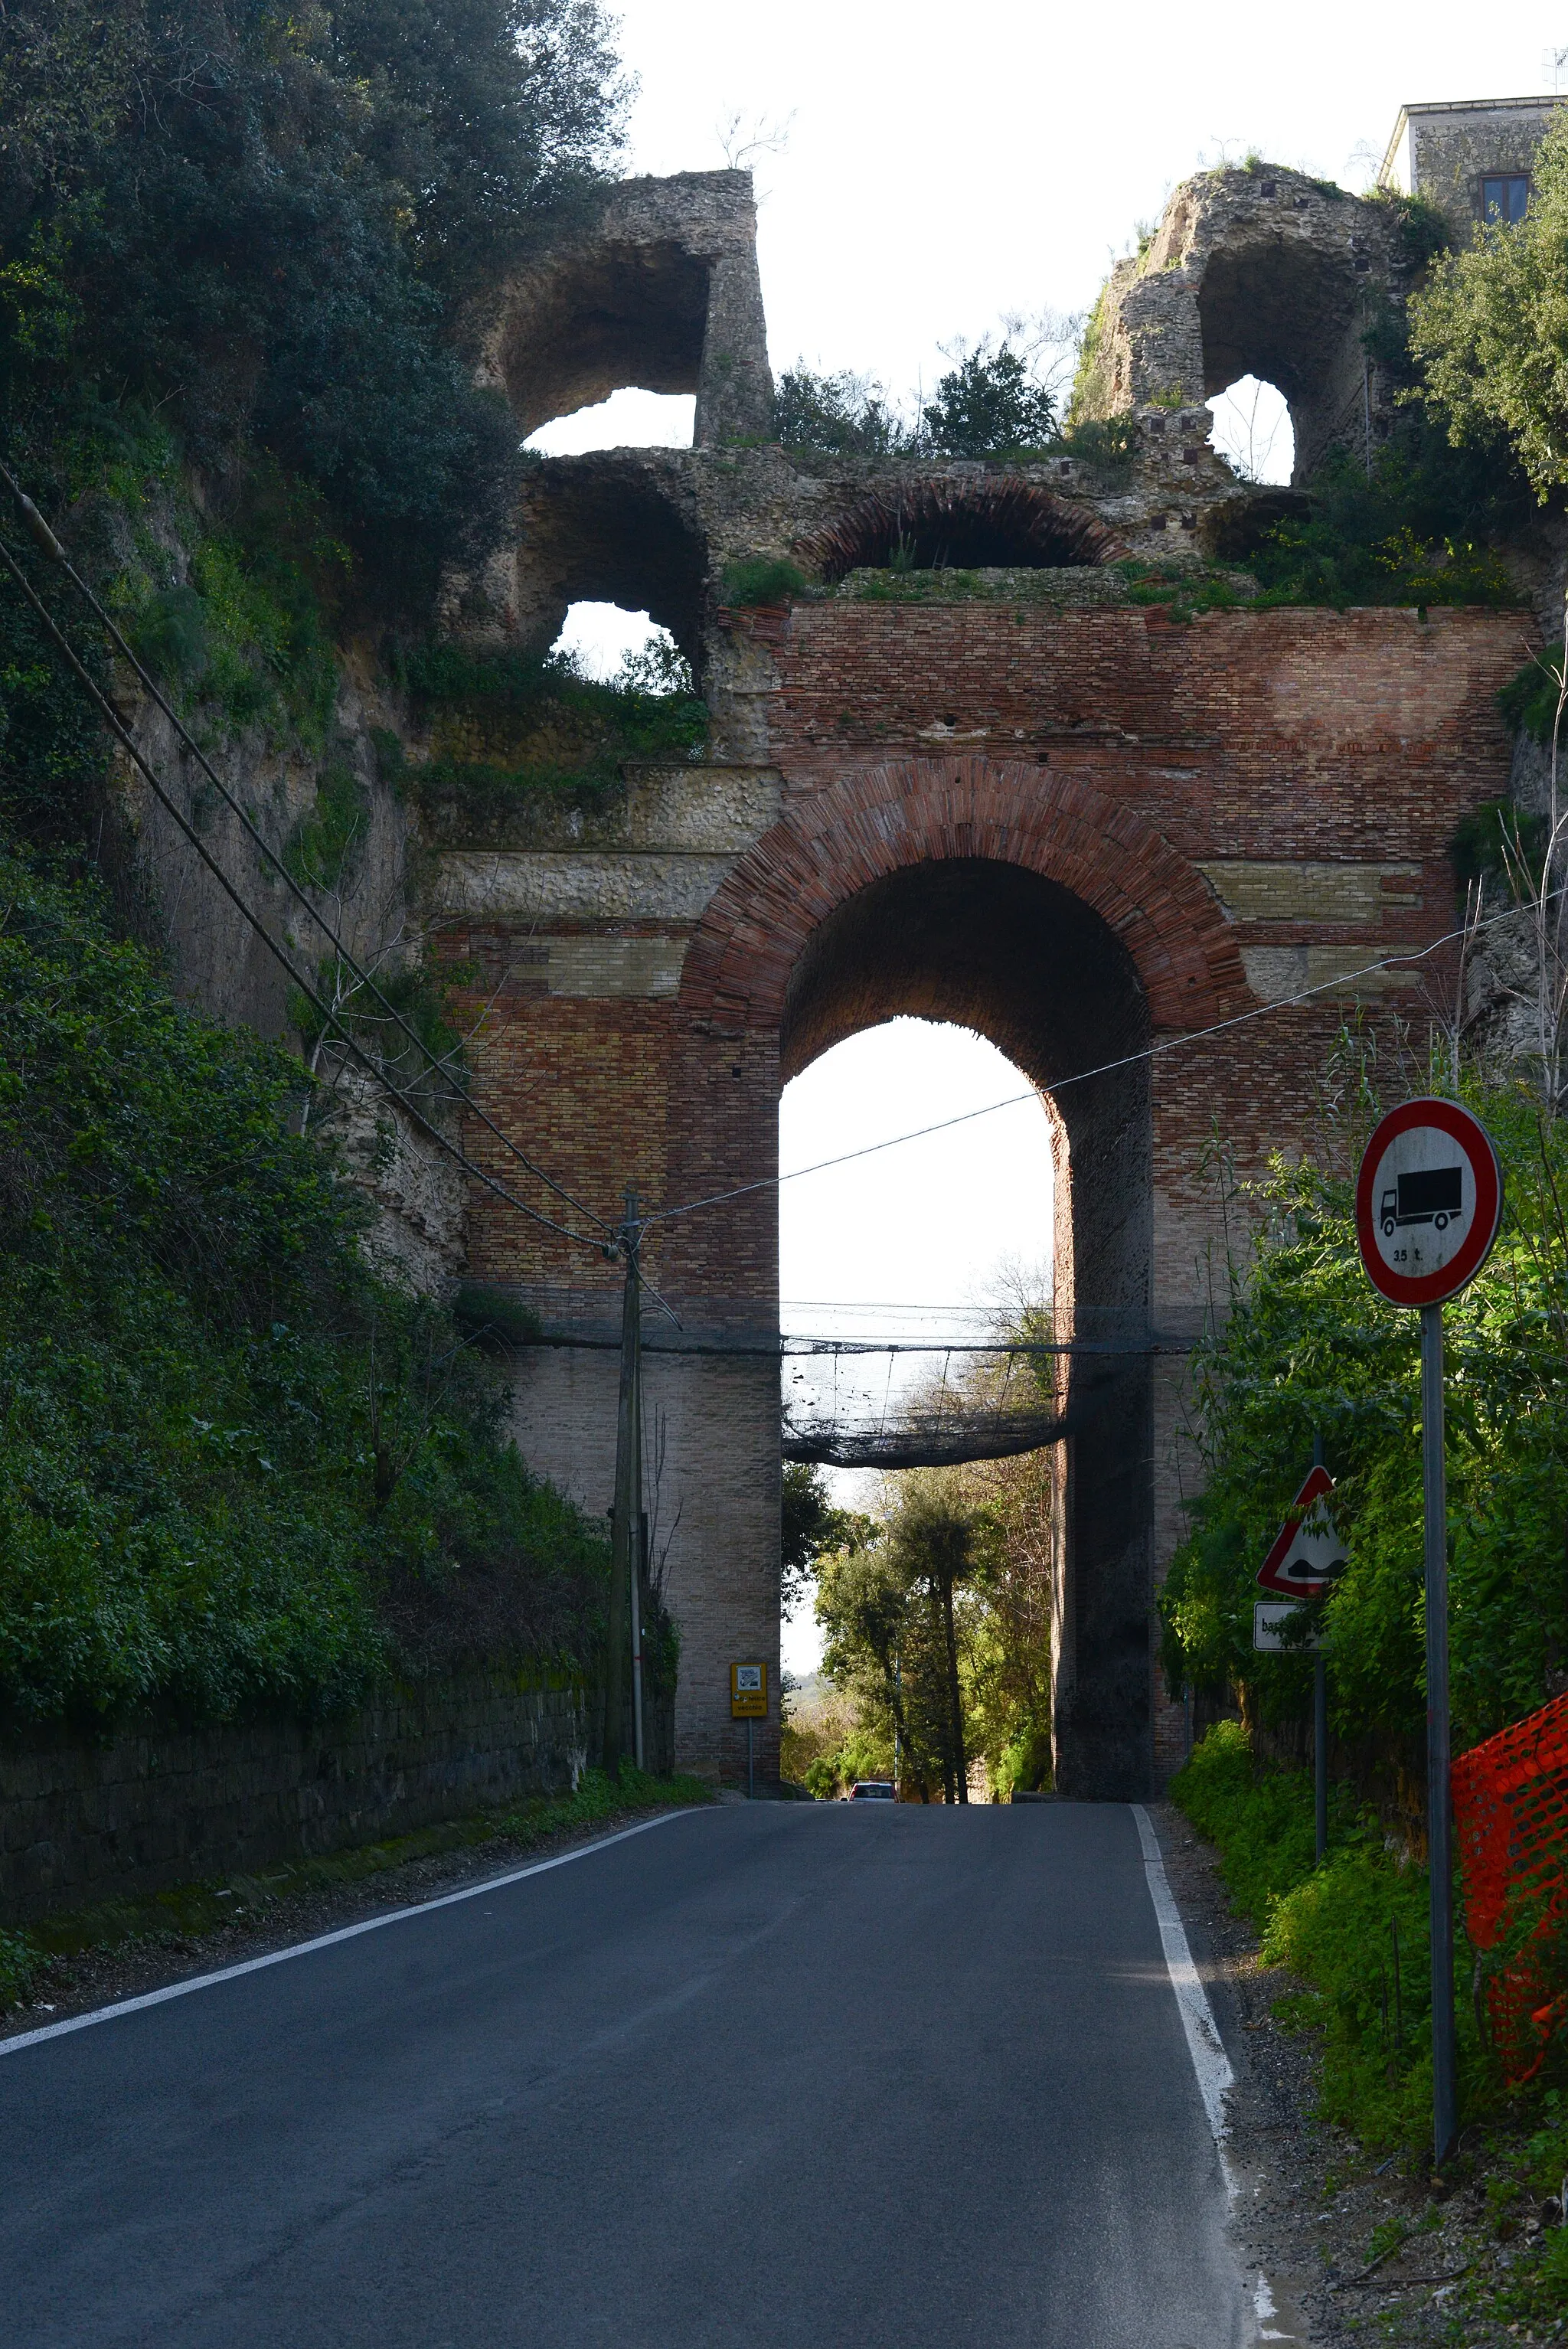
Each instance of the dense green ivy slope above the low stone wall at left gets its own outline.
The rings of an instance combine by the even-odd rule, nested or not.
[[[378,1280],[298,1062],[178,1005],[92,883],[0,857],[0,1715],[333,1705],[592,1668],[606,1546]]]

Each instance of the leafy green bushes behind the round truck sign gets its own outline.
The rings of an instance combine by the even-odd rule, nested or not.
[[[1347,1036],[1324,1076],[1317,1163],[1279,1160],[1253,1193],[1261,1231],[1230,1268],[1218,1327],[1192,1355],[1202,1494],[1162,1586],[1164,1670],[1246,1691],[1249,1717],[1300,1719],[1305,1656],[1256,1656],[1256,1571],[1324,1438],[1350,1564],[1324,1602],[1329,1703],[1385,1769],[1418,1752],[1422,1696],[1420,1346],[1371,1292],[1354,1167],[1385,1106],[1371,1048]],[[1453,1092],[1448,1038],[1390,1092]],[[1385,1083],[1387,1083],[1385,1078]],[[1451,1670],[1458,1743],[1561,1687],[1568,1654],[1568,1125],[1516,1083],[1460,1073],[1498,1144],[1507,1221],[1444,1308],[1448,1358]]]

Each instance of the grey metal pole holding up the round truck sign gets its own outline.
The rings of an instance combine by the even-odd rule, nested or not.
[[[1427,1503],[1427,1867],[1432,1875],[1432,2159],[1458,2135],[1453,2039],[1453,1802],[1448,1792],[1448,1478],[1444,1308],[1420,1308],[1420,1475]]]

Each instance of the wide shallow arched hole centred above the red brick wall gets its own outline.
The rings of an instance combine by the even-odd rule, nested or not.
[[[1030,482],[908,482],[857,500],[796,547],[824,580],[850,571],[1059,571],[1122,554],[1113,531]]]

